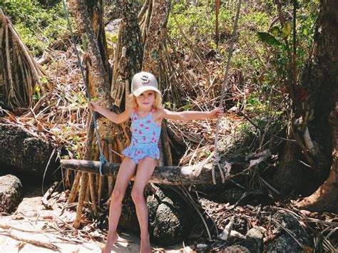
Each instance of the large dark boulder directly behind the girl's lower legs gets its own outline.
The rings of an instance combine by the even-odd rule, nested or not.
[[[123,200],[119,227],[138,234],[140,228],[130,189]],[[148,188],[146,195],[151,241],[164,246],[181,243],[193,227],[192,215],[186,203],[172,190],[162,190],[155,185],[151,190]]]

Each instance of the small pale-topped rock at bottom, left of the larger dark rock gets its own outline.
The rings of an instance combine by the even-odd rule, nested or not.
[[[253,227],[247,232],[246,239],[241,245],[250,252],[263,252],[263,238],[266,231],[264,227]]]

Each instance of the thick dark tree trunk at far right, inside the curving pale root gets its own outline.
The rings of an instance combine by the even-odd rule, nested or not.
[[[302,76],[302,88],[307,97],[302,102],[300,95],[295,94],[295,99],[299,100],[297,104],[302,105],[302,115],[291,123],[292,136],[302,138],[297,144],[303,146],[285,143],[275,178],[282,192],[287,194],[290,190],[302,194],[313,192],[326,180],[332,162],[329,113],[337,101],[338,4],[334,0],[322,0],[319,6],[313,56]],[[308,165],[302,165],[299,160]]]

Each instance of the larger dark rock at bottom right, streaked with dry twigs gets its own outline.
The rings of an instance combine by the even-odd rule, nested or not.
[[[272,215],[270,229],[275,235],[275,239],[265,244],[265,252],[303,252],[303,247],[309,247],[309,245],[311,245],[309,236],[301,224],[299,224],[297,218],[290,214],[290,212],[280,210]],[[286,229],[295,238],[290,236],[290,234],[285,231]],[[300,247],[295,239],[297,239],[297,242],[299,242],[302,247]]]

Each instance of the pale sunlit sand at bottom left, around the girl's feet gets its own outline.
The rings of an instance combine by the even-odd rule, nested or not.
[[[73,229],[75,212],[61,212],[60,205],[46,210],[41,199],[24,197],[14,214],[0,217],[0,252],[101,252],[103,240],[98,237],[102,234],[93,229]],[[152,246],[153,252],[192,252],[182,245],[165,249]],[[113,252],[139,252],[138,237],[121,233]]]

